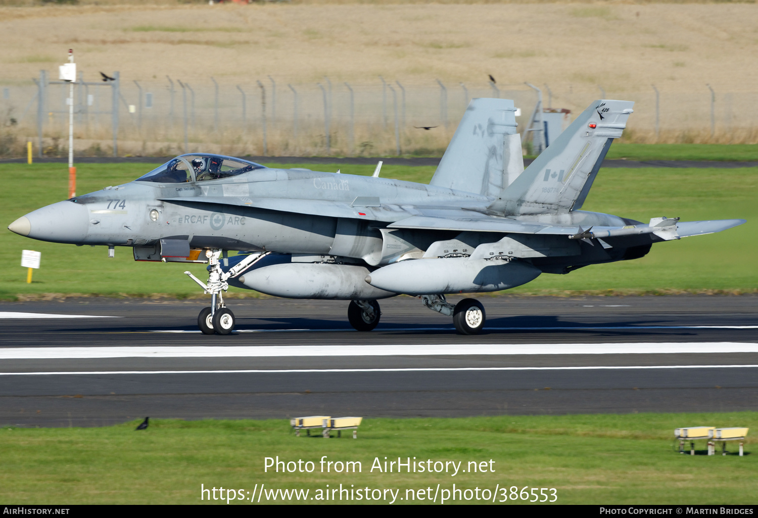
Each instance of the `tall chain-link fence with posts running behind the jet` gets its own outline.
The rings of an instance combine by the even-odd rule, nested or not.
[[[386,78],[293,83],[272,77],[225,83],[212,77],[143,82],[80,74],[74,136],[82,155],[169,155],[208,151],[267,156],[440,155],[475,97],[510,98],[528,125],[537,91],[495,83],[410,84]],[[93,80],[94,79],[94,80]],[[0,154],[64,154],[68,89],[42,72],[30,86],[2,88]],[[626,142],[758,142],[758,92],[604,92],[596,86],[542,86],[544,108],[569,118],[597,98],[635,101]],[[115,109],[114,109],[115,108]],[[528,143],[525,143],[528,145]]]

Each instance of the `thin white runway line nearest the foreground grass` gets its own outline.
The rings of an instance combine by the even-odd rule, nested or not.
[[[111,376],[115,374],[282,374],[282,373],[413,373],[413,372],[458,372],[485,370],[629,370],[629,369],[744,369],[758,365],[634,365],[625,367],[409,367],[400,369],[240,369],[240,370],[78,370],[36,373],[0,373],[0,376],[61,376],[95,374]]]

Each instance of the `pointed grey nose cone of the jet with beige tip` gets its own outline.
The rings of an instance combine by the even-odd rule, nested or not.
[[[8,225],[19,236],[57,243],[80,243],[87,235],[87,210],[73,201],[58,201]]]

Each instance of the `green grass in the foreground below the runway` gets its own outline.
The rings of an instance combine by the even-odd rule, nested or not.
[[[287,420],[152,420],[145,432],[134,432],[136,423],[89,429],[0,429],[0,501],[196,504],[201,484],[250,493],[256,484],[308,489],[310,498],[327,484],[339,488],[341,483],[343,488],[400,489],[398,497],[406,498],[406,489],[431,487],[434,495],[437,484],[443,490],[455,483],[456,488],[490,491],[499,485],[508,493],[514,485],[519,490],[556,488],[557,504],[756,502],[754,439],[748,438],[744,457],[707,457],[703,441],[696,443],[694,457],[681,455],[673,441],[674,428],[681,426],[755,429],[758,413],[754,412],[367,419],[357,440],[347,432],[328,441],[320,435],[306,437],[305,432],[295,437]],[[736,445],[728,449],[734,452]],[[315,471],[265,473],[265,457],[277,455],[285,461],[310,460]],[[360,461],[361,473],[320,473],[318,461],[324,455],[327,461]],[[384,457],[402,457],[403,462],[407,457],[433,463],[460,461],[460,469],[466,469],[469,461],[485,461],[494,473],[371,473],[375,457],[382,467]],[[407,503],[399,498],[396,503]],[[274,503],[265,497],[264,502]]]

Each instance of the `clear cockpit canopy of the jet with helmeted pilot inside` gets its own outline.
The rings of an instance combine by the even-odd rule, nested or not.
[[[136,182],[188,183],[229,178],[255,169],[265,169],[241,158],[222,154],[180,154],[177,158],[139,176]]]

